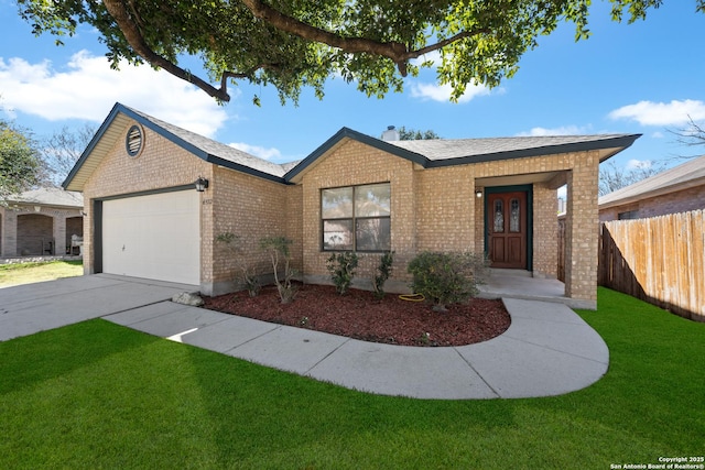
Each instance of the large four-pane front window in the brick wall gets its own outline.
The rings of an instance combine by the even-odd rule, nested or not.
[[[389,183],[323,189],[323,250],[391,250],[390,208]]]

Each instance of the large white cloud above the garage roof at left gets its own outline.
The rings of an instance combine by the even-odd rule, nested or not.
[[[164,70],[127,63],[113,70],[87,51],[73,55],[62,70],[50,61],[0,57],[0,96],[4,108],[50,121],[100,122],[116,101],[206,136],[228,119],[213,98]]]

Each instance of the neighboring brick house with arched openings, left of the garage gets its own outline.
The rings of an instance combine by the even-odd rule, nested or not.
[[[80,193],[41,188],[6,203],[0,206],[0,258],[78,254],[72,237],[84,233]]]

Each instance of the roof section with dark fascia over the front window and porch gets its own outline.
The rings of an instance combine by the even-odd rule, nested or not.
[[[348,128],[316,149],[299,165],[286,173],[286,181],[295,181],[318,159],[335,149],[346,139],[366,143],[424,168],[491,162],[528,156],[555,155],[568,152],[600,151],[600,162],[630,146],[641,134],[598,134],[519,136],[494,139],[382,141]]]

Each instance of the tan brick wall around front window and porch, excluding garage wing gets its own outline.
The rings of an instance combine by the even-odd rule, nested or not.
[[[581,216],[574,225],[578,233],[575,233],[576,244],[572,249],[579,259],[573,260],[571,275],[574,278],[570,284],[570,294],[574,298],[584,299],[586,307],[594,307],[597,293],[596,152],[423,170],[359,142],[344,141],[319,160],[313,168],[306,171],[301,182],[304,193],[303,258],[306,280],[326,282],[328,278],[325,259],[329,254],[321,250],[321,189],[390,181],[392,249],[397,252],[392,281],[397,281],[398,285],[408,283],[406,263],[419,251],[484,251],[485,208],[484,198],[475,197],[476,178],[570,172],[576,168],[571,183],[577,186],[573,188],[572,196],[578,199],[574,204],[574,210],[578,210],[576,214]],[[539,176],[536,179],[541,181]],[[532,267],[536,276],[556,277],[556,190],[547,183],[539,182],[533,184],[532,193]],[[408,194],[413,197],[406,197]],[[361,258],[358,276],[370,277],[378,256],[362,254]],[[594,282],[590,283],[590,280]]]

